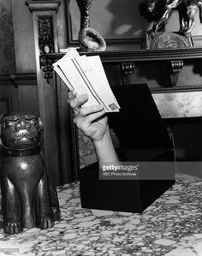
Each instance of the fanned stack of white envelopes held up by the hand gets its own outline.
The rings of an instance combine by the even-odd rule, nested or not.
[[[78,95],[88,95],[84,106],[103,104],[106,112],[119,111],[120,106],[110,89],[99,56],[80,56],[77,51],[71,50],[54,63],[53,68],[69,90],[74,90]]]

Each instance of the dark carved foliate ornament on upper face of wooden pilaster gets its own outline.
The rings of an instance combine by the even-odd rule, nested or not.
[[[40,67],[45,73],[45,80],[50,83],[53,77],[52,60],[45,54],[55,51],[52,15],[40,15],[38,16],[37,22],[39,31]]]

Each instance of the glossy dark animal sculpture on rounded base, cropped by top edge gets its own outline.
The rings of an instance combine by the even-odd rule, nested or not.
[[[202,22],[201,0],[146,0],[140,3],[140,14],[147,21],[154,21],[150,33],[155,34],[169,20],[173,9],[179,10],[180,33],[189,35],[194,25],[194,15],[199,7],[200,22]]]

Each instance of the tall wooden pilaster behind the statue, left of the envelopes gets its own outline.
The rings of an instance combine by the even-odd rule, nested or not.
[[[68,169],[72,169],[72,167],[70,164],[62,164],[61,145],[64,143],[62,142],[64,139],[61,136],[62,122],[60,118],[60,104],[58,103],[58,86],[56,86],[56,80],[54,78],[52,61],[45,54],[58,52],[56,13],[59,9],[60,2],[27,1],[26,4],[33,15],[39,115],[44,123],[45,160],[48,171],[51,173],[56,185],[59,185],[68,182],[64,176],[68,172]],[[70,119],[69,110],[68,113],[67,111],[65,112],[65,115],[66,118]],[[71,127],[71,123],[68,123],[68,125]],[[71,151],[71,148],[69,151]],[[65,156],[64,161],[66,163],[68,161],[70,162],[69,158],[72,158],[71,152]]]

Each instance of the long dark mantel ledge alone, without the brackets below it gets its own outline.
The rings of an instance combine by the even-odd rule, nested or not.
[[[52,61],[56,61],[63,57],[64,54],[65,53],[49,53],[46,54],[46,57],[49,57]],[[103,63],[171,61],[202,58],[202,48],[102,52],[80,51],[80,55],[84,54],[87,56],[99,55]]]

